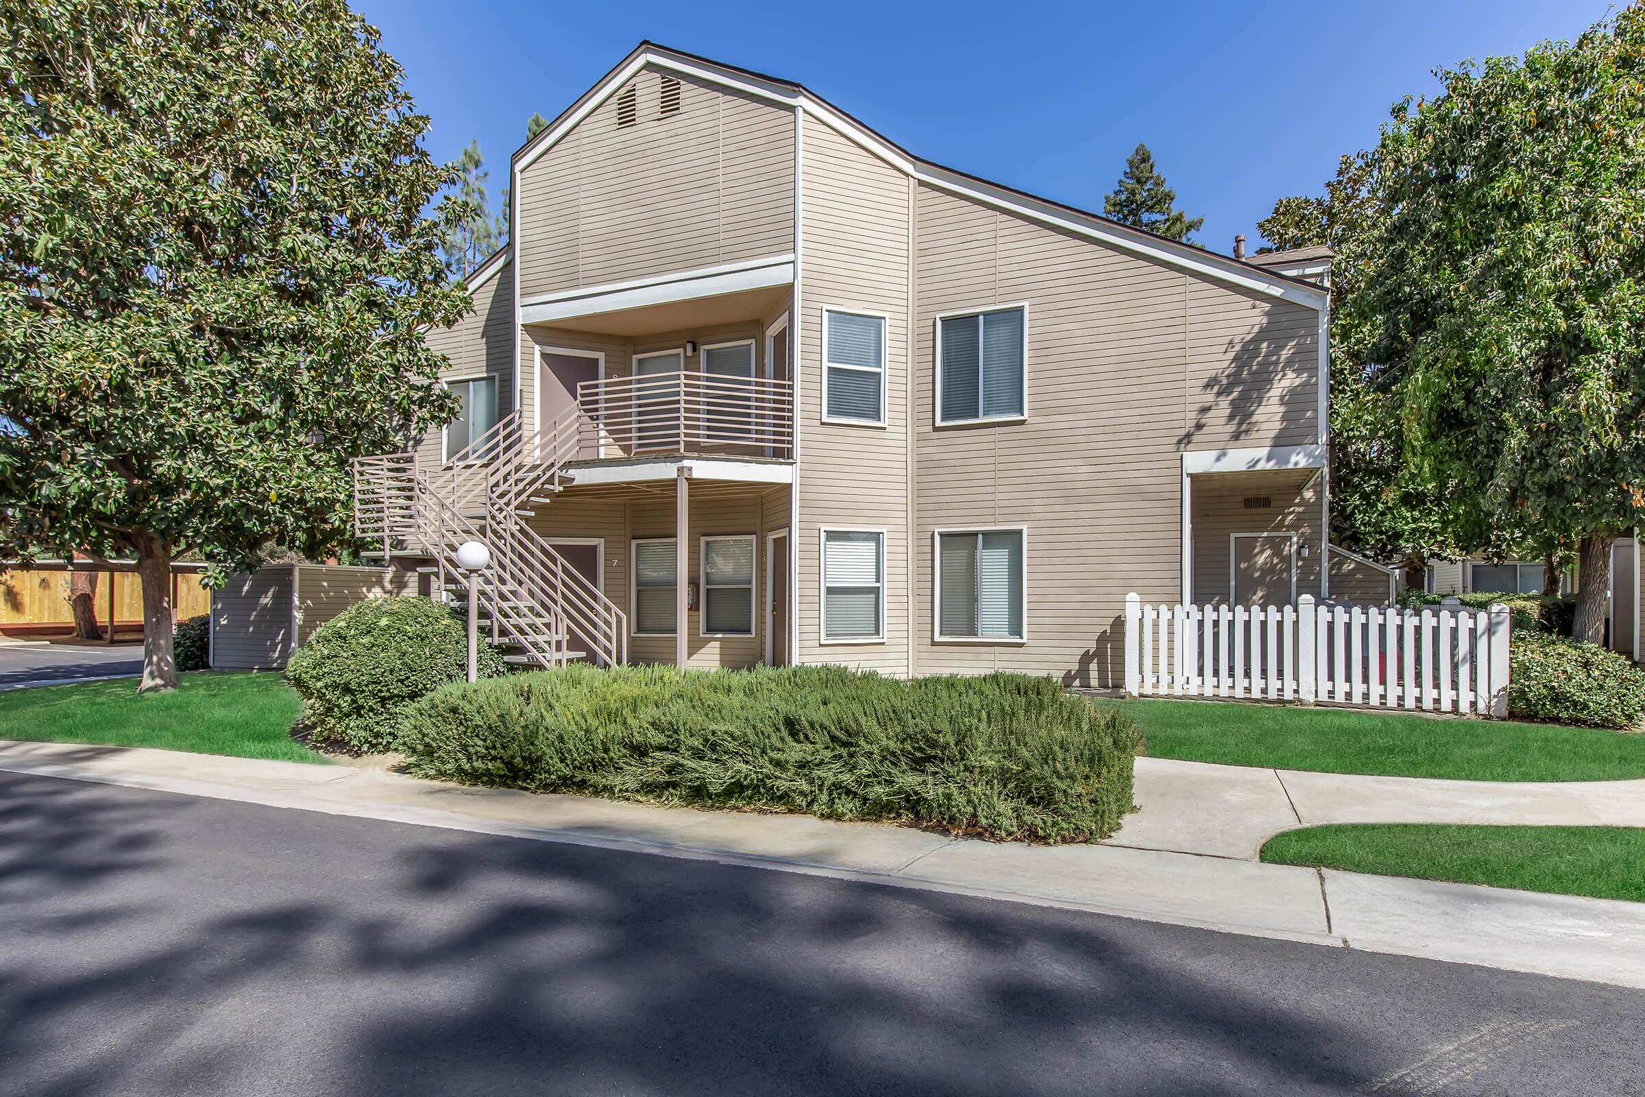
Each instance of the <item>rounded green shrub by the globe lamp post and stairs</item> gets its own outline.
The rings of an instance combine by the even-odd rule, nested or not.
[[[479,673],[507,671],[480,643]],[[355,753],[393,750],[408,704],[469,676],[467,622],[423,597],[368,599],[314,630],[286,664],[314,743]]]

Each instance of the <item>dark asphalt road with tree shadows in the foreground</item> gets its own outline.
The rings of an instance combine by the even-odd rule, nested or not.
[[[7,1094],[1638,1094],[1642,1031],[1614,987],[0,773]]]

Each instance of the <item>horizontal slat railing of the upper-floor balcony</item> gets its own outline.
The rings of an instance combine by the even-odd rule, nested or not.
[[[704,454],[791,459],[793,382],[653,373],[577,385],[584,457]]]

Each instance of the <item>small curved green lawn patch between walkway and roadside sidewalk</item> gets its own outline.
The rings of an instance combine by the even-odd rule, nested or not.
[[[1645,829],[1341,824],[1288,831],[1265,862],[1645,901]]]

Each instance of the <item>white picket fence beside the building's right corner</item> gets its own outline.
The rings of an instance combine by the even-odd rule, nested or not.
[[[1508,610],[1143,605],[1125,597],[1125,692],[1508,714]]]

